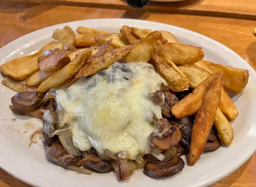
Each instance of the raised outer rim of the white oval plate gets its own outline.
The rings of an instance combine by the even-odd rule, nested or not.
[[[178,26],[173,26],[173,25],[170,25],[170,24],[164,24],[164,23],[161,23],[161,22],[153,22],[153,21],[148,21],[148,20],[137,20],[137,19],[129,19],[129,18],[99,18],[99,19],[86,19],[86,20],[76,20],[76,21],[72,21],[72,22],[64,22],[64,23],[60,23],[60,24],[55,24],[55,25],[52,25],[52,26],[48,26],[48,27],[45,27],[45,28],[42,28],[42,29],[39,29],[39,30],[36,30],[36,31],[33,31],[33,32],[30,32],[24,36],[21,36],[15,40],[13,40],[12,42],[6,44],[4,47],[2,47],[0,49],[0,51],[3,51],[3,50],[8,50],[8,47],[14,45],[16,42],[19,42],[20,40],[22,40],[23,38],[29,38],[31,35],[33,34],[36,34],[36,32],[38,31],[43,31],[43,30],[48,30],[50,28],[54,28],[56,26],[61,26],[61,25],[68,25],[68,24],[73,24],[73,23],[76,23],[76,22],[83,22],[83,21],[111,21],[111,20],[116,20],[116,21],[120,21],[120,20],[128,20],[130,22],[148,22],[148,23],[156,23],[156,24],[161,24],[163,26],[170,26],[172,28],[178,28],[178,29],[181,29],[181,30],[186,30],[187,32],[192,32],[193,34],[196,34],[197,36],[200,36],[210,42],[213,42],[215,43],[216,45],[219,45],[221,46],[222,48],[225,48],[228,52],[231,52],[232,54],[234,54],[236,56],[236,58],[238,58],[249,70],[250,72],[252,72],[254,74],[254,76],[256,77],[256,71],[252,68],[252,66],[250,66],[250,64],[248,64],[241,56],[239,56],[236,52],[234,52],[233,50],[231,50],[230,48],[228,48],[227,46],[225,46],[224,44],[221,44],[220,42],[217,42],[216,40],[213,40],[212,38],[209,38],[208,36],[204,36],[202,34],[199,34],[197,32],[194,32],[194,31],[191,31],[191,30],[188,30],[186,28],[182,28],[182,27],[178,27]],[[90,28],[90,27],[89,27]],[[45,34],[44,35],[45,38],[48,38],[48,34]],[[44,38],[44,37],[41,37],[41,38]],[[42,40],[42,39],[41,39]],[[30,42],[31,43],[31,42]],[[37,40],[35,40],[35,42],[33,43],[37,43]],[[20,46],[20,45],[23,45],[23,44],[18,44],[16,45],[17,47]],[[32,43],[30,44],[32,45]],[[14,51],[14,54],[16,54],[18,50]],[[0,57],[1,58],[1,57]],[[5,63],[5,62],[4,62]],[[4,64],[3,63],[3,64]],[[256,142],[256,139],[255,139],[255,142]],[[252,145],[254,144],[254,142],[252,142]],[[225,177],[227,177],[229,174],[233,173],[234,171],[236,171],[239,167],[241,167],[246,161],[248,161],[248,159],[250,159],[250,157],[252,157],[252,155],[254,154],[254,152],[256,151],[256,144],[254,146],[251,146],[252,149],[249,149],[249,151],[247,151],[247,156],[246,157],[243,157],[242,160],[240,160],[239,164],[237,165],[234,165],[232,167],[228,167],[230,169],[226,170],[224,173],[222,173],[221,175],[219,175],[218,177],[215,177],[215,178],[210,178],[208,181],[204,181],[203,183],[197,185],[197,186],[206,186],[206,185],[212,185],[222,179],[224,179]],[[253,149],[254,148],[254,149]],[[10,175],[14,176],[15,178],[19,179],[20,181],[23,181],[24,183],[27,183],[29,185],[32,185],[32,186],[37,186],[36,183],[33,183],[33,182],[30,182],[30,181],[27,181],[26,179],[23,179],[22,177],[19,177],[18,175],[16,175],[14,172],[10,171],[9,169],[7,169],[6,167],[4,167],[4,165],[2,165],[0,163],[0,168],[2,168],[4,171],[6,171],[7,173],[9,173]]]

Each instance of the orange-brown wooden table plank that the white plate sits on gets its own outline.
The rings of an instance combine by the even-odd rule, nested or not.
[[[256,70],[256,35],[254,34],[256,21],[254,20],[24,2],[0,2],[0,46],[47,26],[94,18],[136,18],[186,28],[228,46]],[[30,185],[0,169],[0,187],[8,186],[29,187]],[[256,187],[256,153],[237,171],[212,186]]]

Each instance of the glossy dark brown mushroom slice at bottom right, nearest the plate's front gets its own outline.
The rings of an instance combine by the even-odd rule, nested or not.
[[[180,157],[172,157],[166,161],[147,162],[143,172],[148,177],[170,177],[184,168],[184,161]]]

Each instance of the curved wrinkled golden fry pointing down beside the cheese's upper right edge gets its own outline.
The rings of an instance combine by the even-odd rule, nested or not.
[[[184,75],[180,75],[178,72],[176,72],[164,61],[164,58],[158,54],[158,48],[161,48],[161,46],[162,45],[155,46],[152,52],[159,74],[164,78],[164,80],[166,80],[168,86],[174,92],[182,92],[187,90],[189,87],[189,81],[184,78]]]

